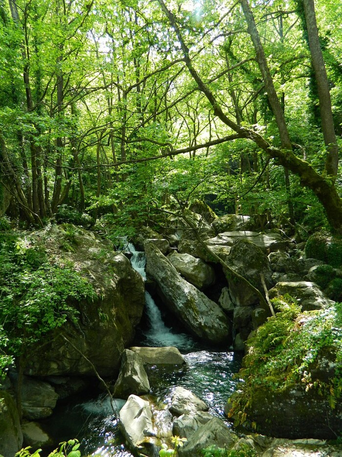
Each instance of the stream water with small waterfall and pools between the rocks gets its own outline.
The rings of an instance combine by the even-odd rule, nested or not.
[[[128,249],[132,252],[133,268],[146,280],[144,252],[135,251],[132,244]],[[230,392],[235,389],[237,380],[233,379],[233,374],[239,370],[242,355],[222,352],[222,348],[209,348],[195,341],[176,326],[169,325],[171,317],[163,315],[147,291],[145,299],[145,314],[134,344],[175,346],[187,362],[185,367],[146,368],[150,394],[168,403],[175,387],[187,388],[207,403],[209,412],[224,420],[223,408]],[[114,409],[119,411],[125,402],[114,399]],[[104,393],[94,398],[94,392],[88,392],[87,396],[75,396],[72,402],[68,399],[67,404],[57,405],[43,425],[56,442],[77,438],[81,442],[82,455],[132,456],[124,444],[110,398]]]

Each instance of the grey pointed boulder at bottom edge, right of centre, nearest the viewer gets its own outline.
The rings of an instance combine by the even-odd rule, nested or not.
[[[233,433],[221,419],[213,417],[192,434],[184,447],[179,448],[180,457],[194,457],[209,446],[219,448],[233,447],[238,436]]]

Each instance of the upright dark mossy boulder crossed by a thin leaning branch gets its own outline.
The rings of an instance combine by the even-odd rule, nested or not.
[[[238,274],[247,279],[256,289],[263,292],[260,275],[263,275],[267,289],[273,286],[270,261],[264,252],[247,240],[234,243],[228,256],[227,264]],[[249,306],[259,301],[256,293],[246,283],[230,273],[226,273],[229,293],[237,306]]]

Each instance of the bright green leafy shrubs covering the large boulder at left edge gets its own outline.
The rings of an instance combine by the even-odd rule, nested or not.
[[[0,365],[10,363],[65,320],[76,320],[72,305],[92,299],[91,284],[67,265],[49,262],[42,246],[8,234],[0,245]]]

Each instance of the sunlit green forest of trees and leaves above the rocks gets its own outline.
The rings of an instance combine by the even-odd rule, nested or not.
[[[341,232],[341,14],[331,0],[2,1],[8,211],[127,226],[197,197],[324,213]]]

